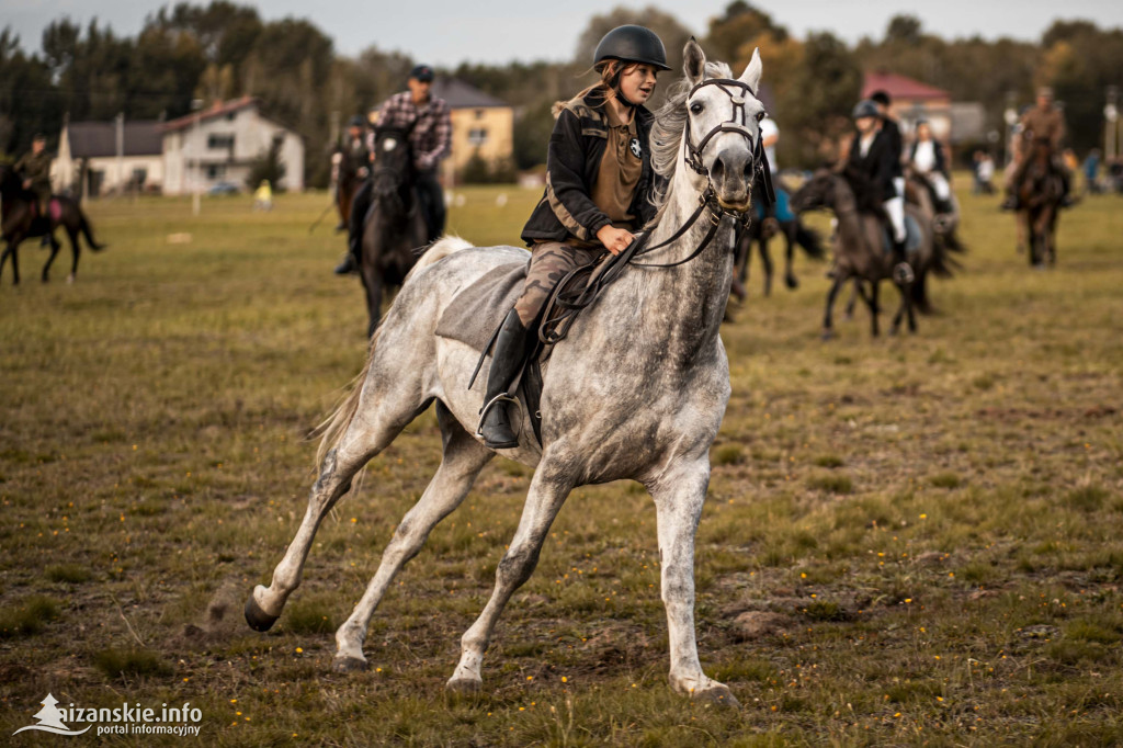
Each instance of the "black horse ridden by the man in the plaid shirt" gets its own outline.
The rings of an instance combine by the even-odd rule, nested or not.
[[[382,316],[382,293],[401,286],[417,263],[419,249],[428,244],[420,199],[413,189],[413,154],[409,133],[378,128],[371,172],[371,209],[363,222],[359,276],[366,289],[366,307],[374,335]]]

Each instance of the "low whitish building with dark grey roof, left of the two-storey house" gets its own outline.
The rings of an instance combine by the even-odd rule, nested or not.
[[[122,188],[159,189],[164,182],[159,122],[66,122],[51,162],[55,190],[99,195]],[[120,142],[118,142],[120,140]],[[118,153],[120,146],[120,153]]]

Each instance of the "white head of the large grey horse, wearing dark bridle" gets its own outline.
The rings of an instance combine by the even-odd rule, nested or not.
[[[691,39],[683,49],[683,67],[691,86],[685,101],[686,164],[713,185],[722,208],[745,212],[764,153],[759,122],[765,108],[757,99],[760,53],[754,51],[741,76],[732,79],[728,66],[711,63],[707,70],[702,47]]]

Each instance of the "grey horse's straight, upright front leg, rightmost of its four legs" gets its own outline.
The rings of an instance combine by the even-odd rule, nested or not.
[[[694,536],[710,485],[709,454],[672,465],[648,485],[655,499],[663,567],[663,604],[670,642],[670,687],[692,699],[739,706],[730,690],[706,676],[694,630]]]

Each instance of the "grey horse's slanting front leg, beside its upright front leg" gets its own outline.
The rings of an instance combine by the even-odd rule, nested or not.
[[[519,529],[495,568],[492,596],[476,622],[460,638],[460,662],[446,685],[449,691],[474,692],[483,685],[480,668],[495,630],[495,622],[514,591],[533,573],[550,524],[573,489],[573,480],[562,467],[566,462],[569,460],[551,460],[548,455],[544,455],[539,463],[535,477],[530,481],[530,492],[522,508]]]

